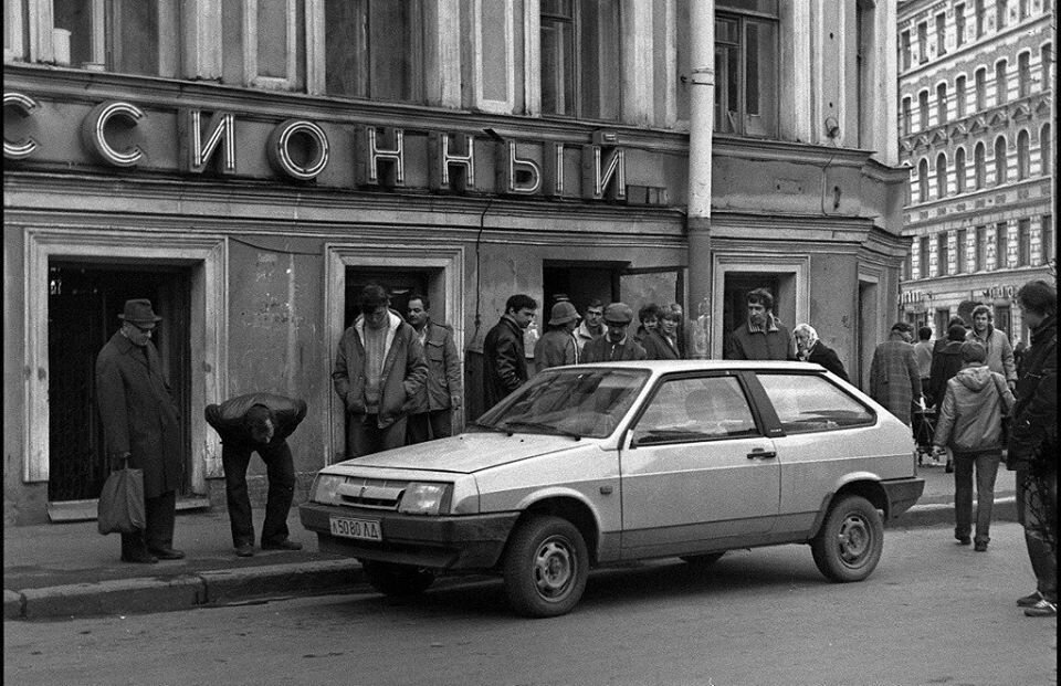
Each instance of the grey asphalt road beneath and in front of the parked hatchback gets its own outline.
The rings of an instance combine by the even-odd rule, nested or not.
[[[862,583],[821,577],[806,546],[595,572],[569,615],[512,615],[493,580],[413,601],[374,594],[128,618],[4,622],[8,684],[1020,685],[1057,684],[1057,620],[1020,527],[987,553],[950,527],[890,529]]]

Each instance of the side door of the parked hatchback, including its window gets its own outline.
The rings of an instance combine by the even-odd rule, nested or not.
[[[663,378],[629,432],[620,455],[624,558],[770,529],[780,468],[737,376]]]

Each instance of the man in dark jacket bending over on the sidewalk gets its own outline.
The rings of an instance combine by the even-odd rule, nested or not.
[[[287,513],[295,495],[295,465],[287,436],[305,419],[306,401],[249,393],[220,405],[207,405],[206,416],[221,436],[224,493],[235,555],[254,555],[254,521],[246,495],[246,467],[254,451],[265,463],[269,476],[262,550],[301,550],[302,543],[287,538]]]

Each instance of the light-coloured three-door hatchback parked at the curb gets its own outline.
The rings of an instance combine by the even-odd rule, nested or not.
[[[500,573],[527,616],[569,612],[590,568],[808,543],[861,581],[883,521],[924,490],[908,426],[807,362],[642,361],[544,370],[468,431],[322,469],[303,526],[407,595]]]

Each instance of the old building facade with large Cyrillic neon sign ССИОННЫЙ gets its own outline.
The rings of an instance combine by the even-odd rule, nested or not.
[[[202,416],[232,395],[306,399],[297,498],[342,458],[330,372],[369,282],[453,327],[458,423],[514,293],[539,320],[559,293],[680,303],[691,353],[721,357],[768,286],[854,379],[897,308],[891,0],[4,0],[4,19],[8,524],[94,511],[92,368],[129,297],[164,317],[181,507],[223,503]]]

